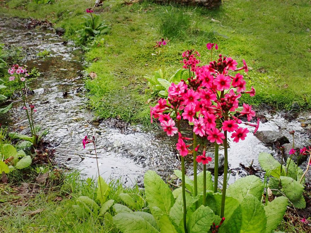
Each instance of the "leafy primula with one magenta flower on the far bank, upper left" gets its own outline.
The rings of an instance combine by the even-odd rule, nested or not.
[[[94,40],[96,37],[106,34],[110,30],[110,25],[105,25],[105,21],[102,21],[100,16],[93,12],[91,8],[86,9],[86,13],[89,14],[83,16],[85,21],[81,23],[82,29],[77,31],[79,34],[78,40],[81,44],[85,44],[89,40]]]

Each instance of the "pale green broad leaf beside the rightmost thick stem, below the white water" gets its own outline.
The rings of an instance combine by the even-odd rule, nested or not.
[[[245,176],[228,187],[227,196],[231,196],[241,202],[248,194],[252,194],[260,200],[263,188],[263,183],[259,177],[253,175]]]

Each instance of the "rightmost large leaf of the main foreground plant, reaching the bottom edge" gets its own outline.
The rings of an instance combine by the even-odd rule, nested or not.
[[[277,226],[279,226],[285,214],[287,205],[288,200],[286,197],[278,197],[272,202],[268,202],[268,205],[264,207],[267,218],[266,233],[271,233]]]

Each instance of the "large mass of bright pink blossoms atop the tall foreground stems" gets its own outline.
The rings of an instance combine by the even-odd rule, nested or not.
[[[205,157],[205,145],[207,142],[222,144],[224,131],[233,132],[231,138],[234,142],[245,139],[249,130],[239,126],[242,123],[239,117],[246,116],[250,121],[255,117],[255,112],[251,105],[245,103],[242,111],[238,111],[239,98],[246,93],[254,96],[255,89],[252,87],[250,91],[245,91],[243,75],[231,75],[233,71],[242,69],[247,72],[246,65],[237,68],[238,63],[231,57],[219,55],[217,62],[197,66],[200,61],[196,57],[199,56],[194,50],[183,53],[183,67],[190,68],[194,77],[189,77],[187,81],[181,80],[178,84],[172,83],[168,89],[168,99],[161,98],[155,107],[150,107],[150,113],[151,122],[153,117],[158,118],[167,135],[179,133],[176,149],[182,156],[188,155],[188,148],[193,145],[186,145],[184,140],[193,139],[182,136],[179,122],[183,119],[193,123],[193,132],[198,136],[198,146],[193,149],[197,151],[200,146],[203,147],[202,156],[197,156],[197,162],[205,164],[211,161],[211,158]],[[176,118],[177,127],[172,117]],[[217,119],[219,125],[216,125]],[[256,132],[259,120],[256,125],[249,122],[244,124],[255,127]]]

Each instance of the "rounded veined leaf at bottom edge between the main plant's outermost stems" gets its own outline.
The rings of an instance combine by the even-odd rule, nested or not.
[[[190,217],[188,222],[189,233],[207,232],[215,219],[215,214],[208,206],[201,205]]]

